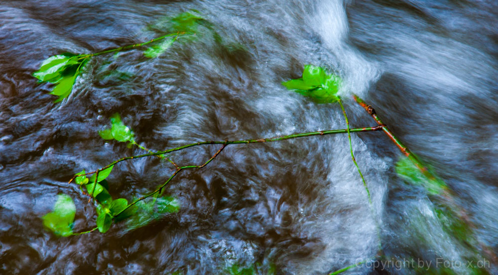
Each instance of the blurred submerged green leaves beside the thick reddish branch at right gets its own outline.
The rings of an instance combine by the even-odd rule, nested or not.
[[[396,163],[396,173],[398,176],[414,185],[421,185],[431,194],[440,194],[447,189],[446,183],[435,177],[428,177],[415,165],[408,157],[401,158]],[[427,173],[433,175],[432,173]]]

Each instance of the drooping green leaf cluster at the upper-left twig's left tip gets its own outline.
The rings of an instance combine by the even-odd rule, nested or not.
[[[56,84],[50,94],[59,96],[54,101],[59,102],[71,93],[76,78],[89,59],[88,55],[72,53],[54,55],[45,59],[40,69],[33,73],[33,76],[40,82]]]

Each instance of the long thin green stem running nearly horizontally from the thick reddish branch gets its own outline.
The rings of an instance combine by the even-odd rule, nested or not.
[[[382,127],[380,126],[375,126],[375,127],[365,127],[365,128],[355,128],[355,129],[350,129],[350,133],[359,133],[359,132],[369,132],[369,131],[378,131],[382,130]],[[327,130],[327,131],[318,131],[318,132],[309,132],[309,133],[298,133],[298,134],[292,134],[292,135],[286,135],[286,136],[280,136],[280,137],[271,137],[271,138],[260,138],[260,139],[245,139],[245,140],[234,140],[234,141],[203,141],[203,142],[197,142],[197,143],[191,143],[187,145],[183,145],[180,147],[168,149],[165,151],[159,151],[159,152],[154,152],[154,153],[148,153],[148,154],[143,154],[143,155],[137,155],[137,156],[131,156],[131,157],[124,157],[119,160],[116,160],[112,162],[111,164],[97,170],[97,171],[102,171],[105,170],[117,163],[126,161],[126,160],[132,160],[132,159],[139,159],[139,158],[144,158],[144,157],[150,157],[150,156],[157,156],[157,155],[162,155],[162,154],[167,154],[179,150],[183,150],[189,147],[193,146],[199,146],[199,145],[207,145],[207,144],[224,144],[224,145],[229,145],[229,144],[249,144],[249,143],[265,143],[265,142],[274,142],[274,141],[281,141],[281,140],[287,140],[287,139],[293,139],[293,138],[300,138],[300,137],[310,137],[310,136],[325,136],[325,135],[332,135],[332,134],[346,134],[348,133],[348,129],[341,129],[341,130]],[[69,183],[71,183],[76,177],[80,176],[88,176],[95,174],[97,171],[89,172],[86,174],[81,174],[78,176],[74,176]]]

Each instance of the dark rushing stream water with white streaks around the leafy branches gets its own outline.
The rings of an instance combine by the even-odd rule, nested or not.
[[[94,58],[61,104],[31,77],[51,55],[157,37],[148,25],[189,8],[214,23],[223,44],[199,34],[152,60],[140,51]],[[488,257],[488,272],[497,274],[497,26],[494,0],[3,0],[0,273],[221,274],[258,263],[258,274],[274,266],[275,274],[321,275],[375,258],[378,225],[389,259]],[[229,146],[167,187],[181,203],[178,213],[136,230],[121,223],[106,234],[57,238],[43,228],[41,216],[58,193],[76,203],[76,231],[94,227],[88,197],[67,181],[142,152],[99,137],[115,112],[154,150],[344,128],[338,106],[280,85],[310,63],[342,76],[353,126],[374,122],[351,92],[434,167],[465,209],[477,243],[458,242],[427,192],[396,176],[400,153],[380,132],[353,135],[374,214],[347,137],[337,135]],[[113,70],[130,77],[113,77]],[[217,149],[194,147],[172,158],[200,164]],[[109,177],[110,192],[131,199],[172,172],[155,159],[121,163]],[[367,265],[348,274],[385,272],[417,274]]]

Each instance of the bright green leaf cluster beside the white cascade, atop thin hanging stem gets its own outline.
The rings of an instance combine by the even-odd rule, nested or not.
[[[336,75],[327,74],[322,67],[305,65],[302,78],[282,82],[282,85],[309,96],[318,103],[331,103],[339,100],[337,92],[341,79]]]

